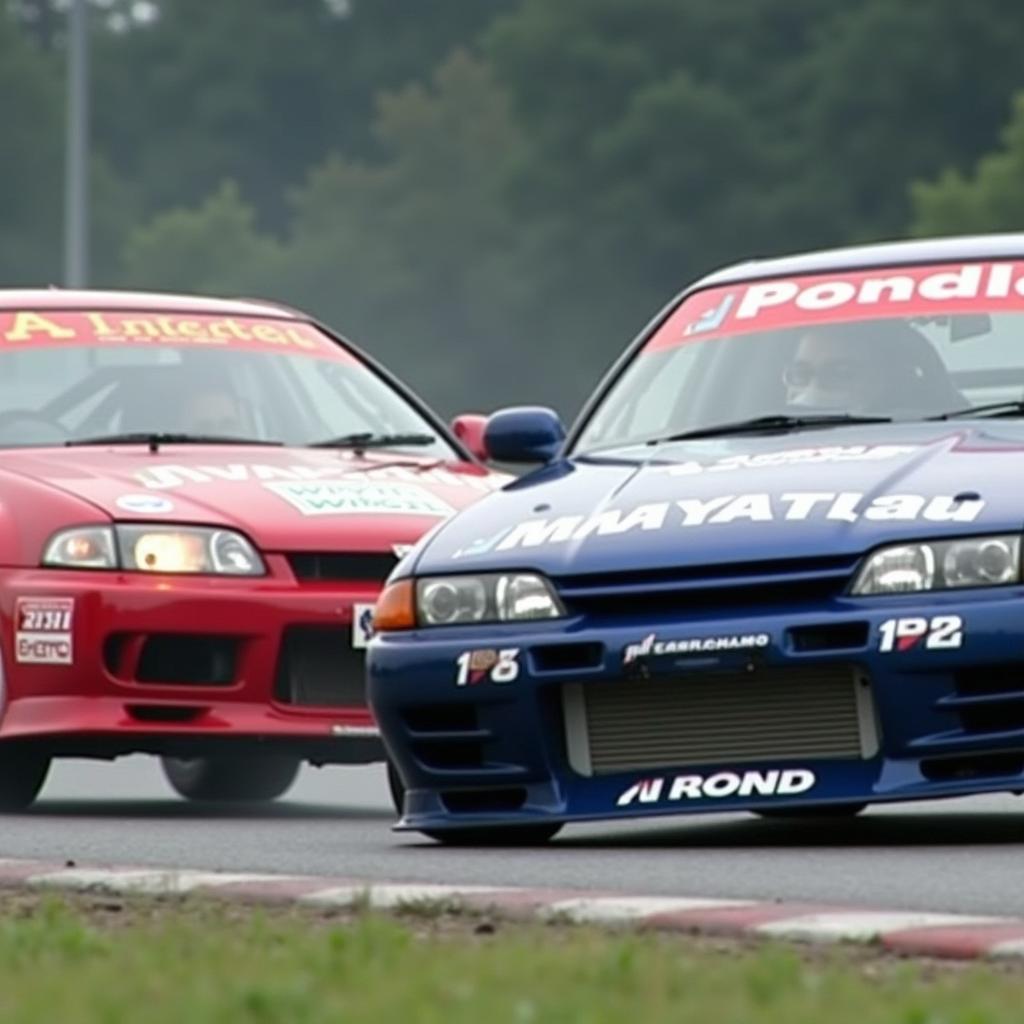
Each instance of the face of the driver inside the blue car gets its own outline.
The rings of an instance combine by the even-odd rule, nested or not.
[[[870,398],[874,373],[862,345],[848,338],[807,334],[783,372],[786,400],[848,411]]]

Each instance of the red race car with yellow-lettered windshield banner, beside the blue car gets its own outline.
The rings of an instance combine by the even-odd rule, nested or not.
[[[281,306],[0,291],[0,809],[55,757],[159,755],[193,800],[384,760],[373,603],[509,479],[482,422]]]

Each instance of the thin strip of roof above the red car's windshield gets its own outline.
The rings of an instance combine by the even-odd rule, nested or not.
[[[0,288],[0,309],[128,309],[219,316],[310,318],[297,309],[262,299],[221,299],[171,292],[102,291],[92,288]]]

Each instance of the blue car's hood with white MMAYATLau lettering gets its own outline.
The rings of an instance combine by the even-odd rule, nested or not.
[[[450,519],[396,574],[856,555],[1022,522],[1021,423],[844,427],[565,460]]]

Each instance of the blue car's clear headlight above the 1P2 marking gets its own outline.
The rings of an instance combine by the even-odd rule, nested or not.
[[[1020,583],[1020,544],[1019,537],[1007,535],[882,548],[864,563],[852,593],[912,594]]]

